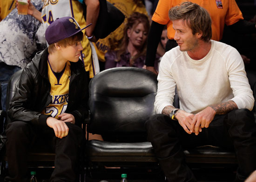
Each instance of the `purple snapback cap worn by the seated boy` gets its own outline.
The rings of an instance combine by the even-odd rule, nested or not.
[[[92,25],[91,23],[88,25]],[[60,40],[71,37],[72,35],[81,32],[78,23],[72,17],[62,17],[56,19],[51,25],[49,25],[45,31],[45,39],[49,45],[59,42]]]

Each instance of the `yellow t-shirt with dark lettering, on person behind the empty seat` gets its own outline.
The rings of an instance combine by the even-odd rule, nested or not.
[[[147,10],[145,6],[142,4],[135,4],[133,0],[108,0],[110,3],[112,3],[115,7],[117,7],[124,15],[125,19],[124,22],[114,31],[111,32],[108,37],[105,39],[99,39],[96,43],[94,43],[96,52],[98,55],[98,58],[100,61],[105,61],[105,53],[110,50],[110,46],[114,45],[114,47],[117,47],[121,39],[124,35],[124,27],[127,22],[128,17],[134,13],[139,12],[146,14],[148,16]]]

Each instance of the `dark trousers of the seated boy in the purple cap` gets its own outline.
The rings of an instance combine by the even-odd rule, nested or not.
[[[60,139],[48,126],[39,128],[22,121],[9,123],[6,130],[9,174],[5,181],[27,182],[27,154],[36,150],[55,152],[55,168],[50,182],[74,182],[83,133],[80,127],[66,124],[68,135]]]

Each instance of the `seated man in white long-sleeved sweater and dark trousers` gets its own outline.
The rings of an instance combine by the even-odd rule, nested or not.
[[[211,39],[209,13],[184,2],[169,11],[179,46],[165,53],[148,141],[168,182],[195,182],[183,149],[215,145],[235,149],[236,181],[256,169],[254,98],[235,48]],[[173,106],[175,87],[180,109]],[[246,155],[245,155],[246,154]]]

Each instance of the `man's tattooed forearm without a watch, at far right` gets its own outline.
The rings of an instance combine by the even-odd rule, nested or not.
[[[216,111],[216,114],[227,114],[231,110],[238,109],[236,103],[233,100],[221,104],[209,105],[213,110]]]

